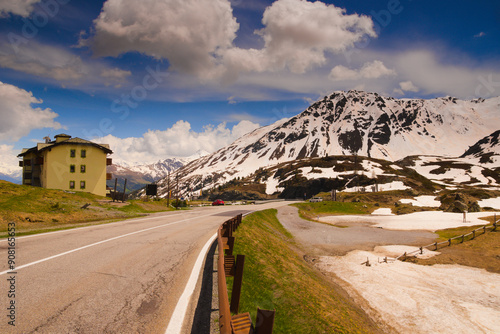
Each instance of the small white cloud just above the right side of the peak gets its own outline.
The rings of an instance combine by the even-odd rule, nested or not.
[[[334,81],[358,80],[358,79],[378,79],[384,76],[394,76],[396,71],[385,67],[380,60],[366,62],[359,70],[352,70],[342,65],[335,66],[329,78]]]

